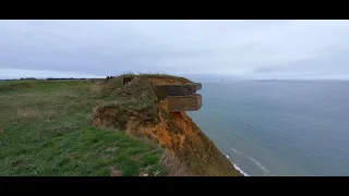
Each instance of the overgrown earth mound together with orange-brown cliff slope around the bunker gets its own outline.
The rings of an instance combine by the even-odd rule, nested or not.
[[[122,76],[120,76],[122,77]],[[115,77],[101,87],[107,102],[94,109],[91,123],[155,140],[192,175],[241,175],[185,112],[171,113],[155,84],[192,83],[169,75],[137,75],[127,85]]]

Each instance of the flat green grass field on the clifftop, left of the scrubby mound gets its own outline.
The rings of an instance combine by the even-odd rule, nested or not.
[[[122,175],[165,175],[157,145],[89,125],[93,107],[106,101],[91,90],[93,85],[1,82],[0,175],[103,176],[110,175],[111,168]]]

